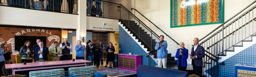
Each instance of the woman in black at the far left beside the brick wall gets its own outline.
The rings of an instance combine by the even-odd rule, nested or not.
[[[1,70],[5,74],[5,64],[10,64],[11,63],[12,50],[9,47],[7,47],[6,43],[2,43],[1,48],[4,49],[4,52],[5,52],[5,54],[4,54],[5,63],[4,63],[3,68]]]

